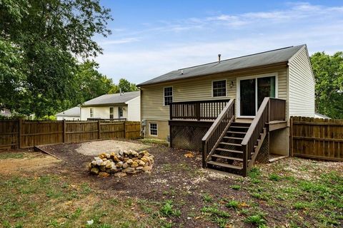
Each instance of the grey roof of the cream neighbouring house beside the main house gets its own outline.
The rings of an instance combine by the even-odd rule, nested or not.
[[[104,94],[97,98],[86,101],[82,106],[101,106],[101,105],[114,105],[126,103],[138,97],[140,91],[126,92],[126,93],[114,93],[114,94]]]

